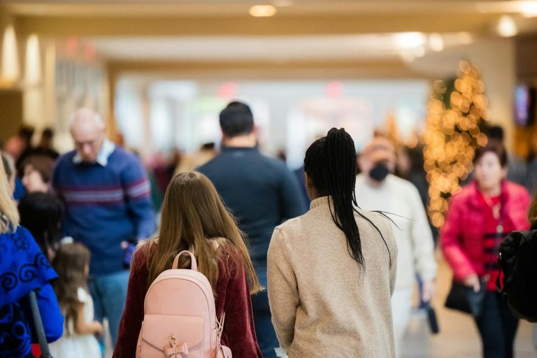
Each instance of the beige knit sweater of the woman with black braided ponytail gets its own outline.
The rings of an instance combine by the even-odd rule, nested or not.
[[[395,357],[390,301],[396,243],[385,217],[359,213],[384,238],[355,214],[365,270],[350,257],[326,196],[274,231],[268,248],[268,299],[278,341],[289,358]]]

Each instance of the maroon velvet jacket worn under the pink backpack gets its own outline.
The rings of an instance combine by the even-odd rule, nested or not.
[[[231,245],[231,244],[229,244]],[[236,250],[231,249],[231,252]],[[114,358],[134,358],[143,321],[143,302],[148,291],[147,245],[138,250],[131,265],[127,303],[120,323]],[[218,259],[219,276],[215,292],[217,317],[226,313],[222,345],[227,345],[234,358],[262,358],[255,336],[252,301],[248,280],[238,252]],[[180,302],[178,302],[180,304]]]

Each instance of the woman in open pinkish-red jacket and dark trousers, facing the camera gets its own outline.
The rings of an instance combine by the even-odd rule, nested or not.
[[[482,314],[475,323],[485,358],[513,357],[518,320],[496,293],[499,241],[514,230],[529,229],[530,197],[508,182],[503,145],[475,150],[475,181],[452,197],[441,232],[441,245],[454,280],[479,291],[487,285]]]

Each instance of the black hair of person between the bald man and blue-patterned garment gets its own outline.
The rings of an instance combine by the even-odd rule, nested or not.
[[[62,236],[62,202],[52,194],[29,193],[19,201],[19,214],[20,224],[31,232],[45,256],[52,259],[49,249],[56,251]]]

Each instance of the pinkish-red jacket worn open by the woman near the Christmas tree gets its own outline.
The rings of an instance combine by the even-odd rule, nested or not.
[[[504,181],[501,187],[504,226],[515,230],[529,229],[530,197],[524,187]],[[485,275],[483,236],[485,235],[478,185],[472,182],[455,194],[447,210],[441,231],[442,250],[455,280],[469,275]]]

